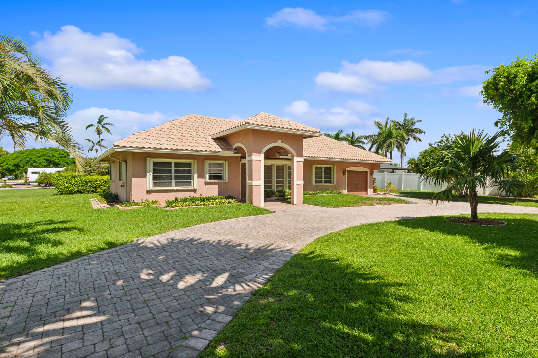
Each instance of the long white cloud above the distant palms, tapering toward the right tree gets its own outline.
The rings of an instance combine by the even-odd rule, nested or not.
[[[484,78],[487,66],[454,66],[431,70],[414,61],[372,61],[357,63],[342,61],[342,68],[335,72],[320,72],[315,82],[320,88],[366,94],[383,88],[388,83],[440,84]]]

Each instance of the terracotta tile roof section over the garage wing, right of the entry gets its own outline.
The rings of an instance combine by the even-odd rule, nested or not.
[[[303,156],[392,163],[392,160],[384,156],[350,146],[324,135],[303,139]]]

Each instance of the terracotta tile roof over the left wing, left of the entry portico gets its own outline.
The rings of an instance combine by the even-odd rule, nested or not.
[[[114,143],[118,147],[172,149],[178,151],[233,152],[234,149],[222,138],[211,138],[215,128],[237,123],[236,120],[187,116],[141,131]]]

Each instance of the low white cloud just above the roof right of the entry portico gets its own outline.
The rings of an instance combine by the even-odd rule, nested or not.
[[[361,118],[360,114],[377,112],[377,109],[367,103],[348,101],[341,107],[329,110],[311,108],[304,99],[295,101],[284,108],[289,118],[316,128],[322,132],[332,130],[350,130],[370,127],[370,121]]]

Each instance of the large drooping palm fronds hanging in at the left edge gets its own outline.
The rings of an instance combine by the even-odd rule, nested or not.
[[[24,41],[0,36],[0,139],[11,138],[14,150],[23,149],[27,137],[54,141],[82,168],[82,148],[65,120],[72,104],[67,89]]]

